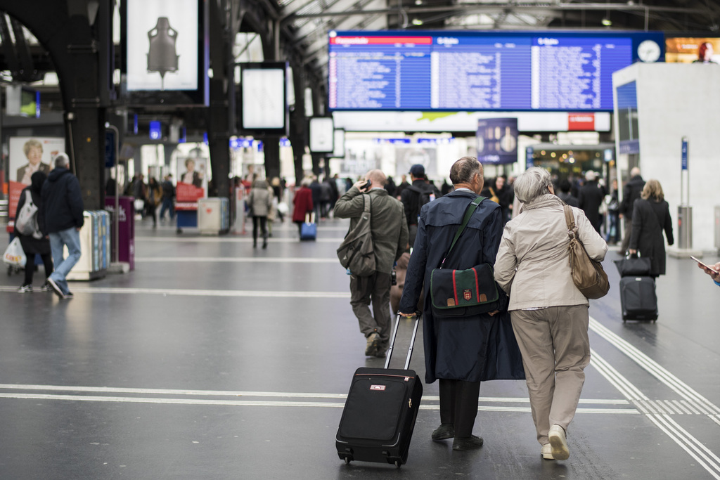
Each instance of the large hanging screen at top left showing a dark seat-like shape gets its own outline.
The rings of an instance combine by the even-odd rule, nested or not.
[[[131,103],[207,105],[207,1],[126,0],[122,8]]]

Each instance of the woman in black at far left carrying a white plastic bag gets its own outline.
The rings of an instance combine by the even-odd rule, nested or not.
[[[20,194],[20,199],[17,202],[17,211],[15,212],[15,218],[18,218],[20,215],[20,210],[22,209],[22,206],[25,204],[25,201],[27,199],[27,193],[30,192],[30,197],[32,198],[32,203],[35,204],[37,207],[37,214],[39,215],[40,212],[42,212],[42,198],[40,196],[40,191],[42,190],[42,184],[45,183],[45,178],[48,178],[48,176],[45,175],[45,173],[42,173],[41,171],[37,171],[32,174],[30,177],[30,185],[25,187],[23,189],[22,194]],[[42,222],[38,219],[38,224],[42,225]],[[50,273],[53,273],[53,258],[50,255],[50,240],[48,239],[48,235],[45,235],[44,232],[40,232],[38,230],[35,232],[35,235],[22,235],[17,228],[15,229],[15,235],[20,239],[20,245],[22,245],[22,251],[24,251],[25,256],[27,256],[27,262],[25,263],[25,279],[22,282],[22,285],[20,286],[17,291],[21,294],[31,292],[32,291],[32,273],[35,271],[35,254],[37,253],[40,255],[40,258],[42,258],[42,263],[45,265],[45,284],[42,284],[42,291],[50,291],[50,288],[48,287],[48,276],[50,276]]]

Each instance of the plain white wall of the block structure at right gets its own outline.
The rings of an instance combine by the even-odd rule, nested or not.
[[[662,184],[677,243],[681,145],[683,136],[688,137],[693,249],[715,250],[714,206],[720,205],[720,65],[635,63],[613,73],[613,86],[633,80],[642,177]],[[687,192],[686,184],[683,189]]]

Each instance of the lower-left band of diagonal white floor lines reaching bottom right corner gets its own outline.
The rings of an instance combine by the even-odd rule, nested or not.
[[[592,319],[591,319],[592,320]],[[604,376],[611,384],[620,386],[618,388],[627,399],[634,401],[641,412],[652,421],[657,427],[660,428],[667,436],[672,438],[675,443],[680,445],[683,450],[695,458],[698,463],[703,466],[714,478],[720,480],[720,476],[716,472],[720,472],[720,458],[718,458],[711,450],[708,450],[697,438],[690,435],[683,427],[680,427],[675,420],[670,418],[670,415],[665,415],[665,412],[658,412],[659,407],[652,401],[649,401],[648,397],[642,393],[636,386],[615,370],[608,362],[605,361],[601,356],[598,355],[595,350],[590,351],[590,358],[593,361],[590,362],[602,376]],[[631,392],[634,392],[632,394]],[[682,405],[679,405],[682,407]],[[688,413],[690,413],[688,411]]]

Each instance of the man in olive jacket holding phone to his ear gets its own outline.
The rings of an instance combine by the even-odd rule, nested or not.
[[[370,201],[370,231],[375,271],[369,276],[350,275],[350,304],[365,335],[366,356],[384,357],[390,340],[390,284],[392,266],[408,248],[408,225],[402,203],[384,189],[387,177],[371,170],[338,199],[336,218],[349,218],[350,230],[357,224],[364,202]],[[372,312],[370,312],[372,304]]]

